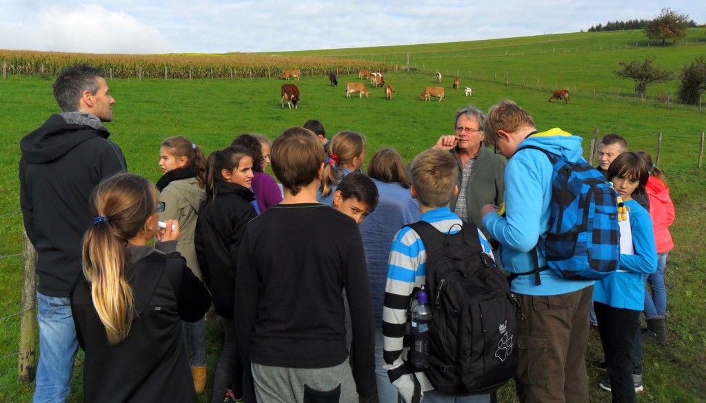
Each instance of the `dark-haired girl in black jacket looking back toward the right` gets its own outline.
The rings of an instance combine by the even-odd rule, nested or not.
[[[216,366],[211,403],[253,401],[249,368],[244,366],[233,319],[238,252],[248,222],[258,215],[253,157],[244,147],[212,152],[206,161],[206,198],[196,222],[196,255],[213,306],[223,320],[225,340]],[[245,380],[244,380],[244,377]],[[231,399],[231,400],[229,400]]]

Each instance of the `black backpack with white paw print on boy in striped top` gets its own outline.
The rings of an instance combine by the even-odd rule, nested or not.
[[[473,224],[463,222],[455,234],[424,221],[408,227],[419,234],[426,250],[432,309],[426,378],[445,395],[498,390],[517,369],[520,301],[483,252]]]

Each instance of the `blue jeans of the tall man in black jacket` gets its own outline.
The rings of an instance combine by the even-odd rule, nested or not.
[[[78,351],[68,298],[37,292],[40,327],[40,361],[37,364],[33,402],[65,402],[71,390],[73,359]]]

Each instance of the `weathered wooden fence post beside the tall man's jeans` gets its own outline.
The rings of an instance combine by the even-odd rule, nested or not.
[[[22,317],[20,318],[20,357],[18,375],[20,381],[30,383],[35,379],[35,323],[37,323],[37,251],[32,246],[27,232],[23,230],[23,276],[22,276]]]

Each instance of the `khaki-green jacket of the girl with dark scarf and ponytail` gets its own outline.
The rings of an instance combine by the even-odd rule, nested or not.
[[[198,205],[205,198],[205,191],[198,187],[196,178],[172,181],[160,194],[160,201],[165,203],[164,212],[160,212],[160,220],[177,219],[179,221],[179,239],[177,251],[186,258],[186,264],[196,277],[203,281],[201,269],[198,267],[196,248],[193,245],[193,235],[196,231]]]

